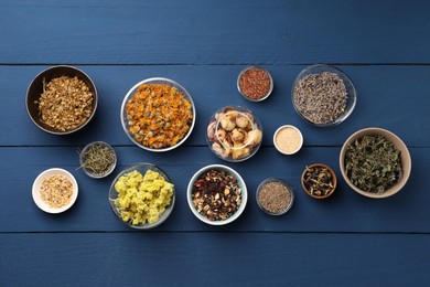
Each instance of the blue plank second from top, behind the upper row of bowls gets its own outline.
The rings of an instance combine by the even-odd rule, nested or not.
[[[262,103],[244,99],[236,78],[244,66],[82,66],[94,79],[99,105],[93,123],[76,135],[52,136],[36,128],[25,111],[25,92],[31,79],[45,66],[0,66],[0,146],[82,146],[93,140],[112,145],[132,142],[122,130],[119,110],[123,96],[138,82],[153,76],[178,81],[193,96],[197,121],[186,146],[206,146],[205,130],[211,115],[227,105],[250,108],[264,127],[264,145],[272,146],[275,130],[284,124],[298,126],[304,145],[341,146],[354,131],[376,126],[397,134],[411,147],[430,147],[430,135],[422,132],[429,121],[430,102],[426,85],[429,66],[340,66],[354,81],[357,105],[345,123],[333,128],[316,128],[293,109],[291,88],[304,66],[270,65],[275,91]]]

